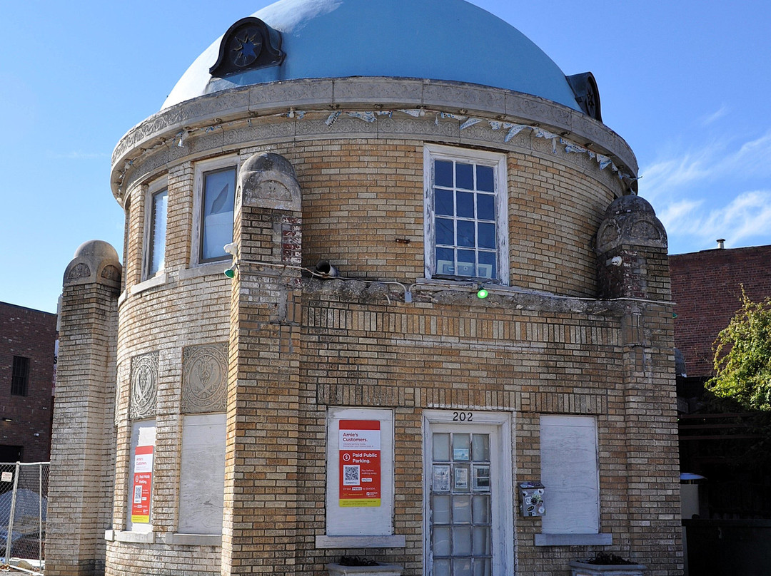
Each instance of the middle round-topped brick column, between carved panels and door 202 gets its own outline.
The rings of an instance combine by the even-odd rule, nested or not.
[[[300,188],[275,154],[241,167],[234,241],[222,574],[293,574]]]

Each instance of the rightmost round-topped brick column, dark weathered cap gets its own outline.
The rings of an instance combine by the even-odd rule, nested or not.
[[[682,571],[675,340],[667,236],[645,199],[623,196],[597,235],[600,296],[621,319],[629,541],[653,574]]]

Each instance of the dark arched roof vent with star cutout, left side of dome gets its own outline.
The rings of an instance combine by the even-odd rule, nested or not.
[[[249,16],[227,28],[217,63],[209,73],[223,78],[234,72],[281,65],[285,57],[286,54],[281,52],[281,32],[260,18]]]

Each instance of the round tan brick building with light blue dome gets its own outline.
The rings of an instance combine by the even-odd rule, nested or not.
[[[118,143],[47,574],[681,568],[666,235],[594,78],[461,0],[368,10],[236,22]]]

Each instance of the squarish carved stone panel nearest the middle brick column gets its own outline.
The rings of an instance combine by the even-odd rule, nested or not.
[[[227,343],[182,350],[182,412],[224,412],[227,400]]]

